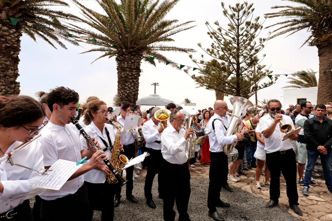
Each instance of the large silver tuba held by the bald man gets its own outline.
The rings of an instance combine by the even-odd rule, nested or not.
[[[244,97],[232,97],[230,99],[231,104],[233,105],[233,113],[228,113],[231,115],[231,119],[228,125],[228,129],[226,131],[225,137],[232,136],[236,132],[239,133],[244,133],[244,130],[242,129],[242,118],[243,116],[246,115],[247,110],[250,107],[253,107],[253,103],[249,101],[248,99]],[[230,144],[224,144],[222,146],[222,151],[226,154],[229,155],[230,153],[233,152],[233,149],[236,145],[237,141],[230,143]],[[236,157],[237,158],[237,157]],[[236,160],[236,159],[235,159]]]

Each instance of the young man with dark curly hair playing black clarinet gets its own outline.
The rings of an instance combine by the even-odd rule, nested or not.
[[[71,118],[76,115],[78,100],[78,93],[65,87],[57,87],[48,94],[47,105],[52,114],[41,136],[45,169],[50,168],[58,159],[73,162],[79,162],[85,156],[87,160],[91,159],[80,167],[59,191],[46,190],[40,195],[43,221],[58,221],[64,218],[87,220],[89,202],[87,188],[83,184],[83,174],[96,168],[106,159],[104,151],[96,152],[91,145],[88,145],[89,150],[83,150],[78,130],[69,124]],[[94,142],[100,146],[97,141]]]

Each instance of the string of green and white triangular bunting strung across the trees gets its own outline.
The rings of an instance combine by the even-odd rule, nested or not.
[[[19,21],[21,22],[25,22],[27,23],[28,26],[32,26],[32,25],[37,25],[41,28],[48,28],[48,27],[45,27],[45,26],[42,26],[42,25],[38,25],[38,24],[34,24],[34,23],[31,23],[31,22],[26,22],[26,21],[23,21],[23,20],[20,20],[20,19],[16,19],[16,18],[12,18],[12,17],[8,17],[11,21],[11,23],[13,24],[13,26],[15,26]],[[107,46],[107,47],[111,47],[111,48],[114,48],[114,49],[119,49],[119,47],[117,45],[109,45],[109,44],[104,44],[104,43],[101,43],[101,42],[98,42],[96,38],[91,38],[91,39],[88,39],[88,38],[85,38],[85,37],[82,37],[82,36],[76,36],[74,34],[71,34],[71,33],[68,33],[68,32],[62,32],[62,31],[59,31],[57,29],[54,29],[54,28],[48,28],[48,29],[52,29],[54,31],[55,34],[66,34],[68,37],[73,37],[73,38],[79,38],[79,39],[82,39],[82,40],[87,40],[87,41],[93,41],[95,43],[99,43],[101,44],[102,46]],[[125,51],[125,49],[122,49],[123,51]],[[142,54],[146,54],[145,52],[142,52]],[[174,68],[176,65],[180,65],[180,69],[186,67],[187,65],[182,65],[182,64],[178,64],[178,63],[174,63],[174,62],[170,62],[170,61],[166,61],[166,60],[162,60],[162,59],[158,59],[158,58],[155,58],[155,57],[151,57],[150,56],[150,61],[152,62],[154,59],[157,59],[158,60],[158,63],[161,63],[162,61],[164,61],[166,63],[166,65],[169,65],[171,64],[172,67]],[[234,73],[223,73],[223,72],[217,72],[217,71],[211,71],[211,70],[206,70],[206,69],[200,69],[200,68],[194,68],[194,67],[191,67],[191,66],[187,66],[187,71],[189,71],[190,69],[193,69],[193,71],[195,70],[200,70],[200,71],[203,71],[205,72],[205,74],[207,74],[208,72],[211,72],[211,74],[213,73],[218,73],[218,74],[226,74],[227,77],[229,77],[230,75],[236,75]],[[317,71],[317,72],[304,72],[304,73],[298,73],[298,74],[281,74],[281,75],[284,75],[284,76],[288,76],[288,75],[291,75],[293,77],[295,77],[296,75],[303,75],[305,76],[306,74],[316,74],[316,73],[319,73],[319,72],[324,72],[327,73],[327,72],[331,72],[332,73],[332,70],[326,70],[326,71]],[[240,73],[239,76],[242,76],[243,73]],[[272,79],[273,76],[276,76],[276,77],[280,77],[281,75],[267,75],[267,77],[269,77],[270,79]]]

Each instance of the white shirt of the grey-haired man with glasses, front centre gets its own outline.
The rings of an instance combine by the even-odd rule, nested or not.
[[[174,164],[187,162],[188,158],[185,151],[187,140],[183,137],[185,133],[185,129],[182,128],[178,133],[171,124],[163,131],[161,135],[161,153],[167,162]]]

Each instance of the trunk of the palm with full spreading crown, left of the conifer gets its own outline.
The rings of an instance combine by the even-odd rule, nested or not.
[[[117,54],[118,96],[121,102],[127,101],[132,107],[138,98],[139,77],[142,57],[134,51]]]

